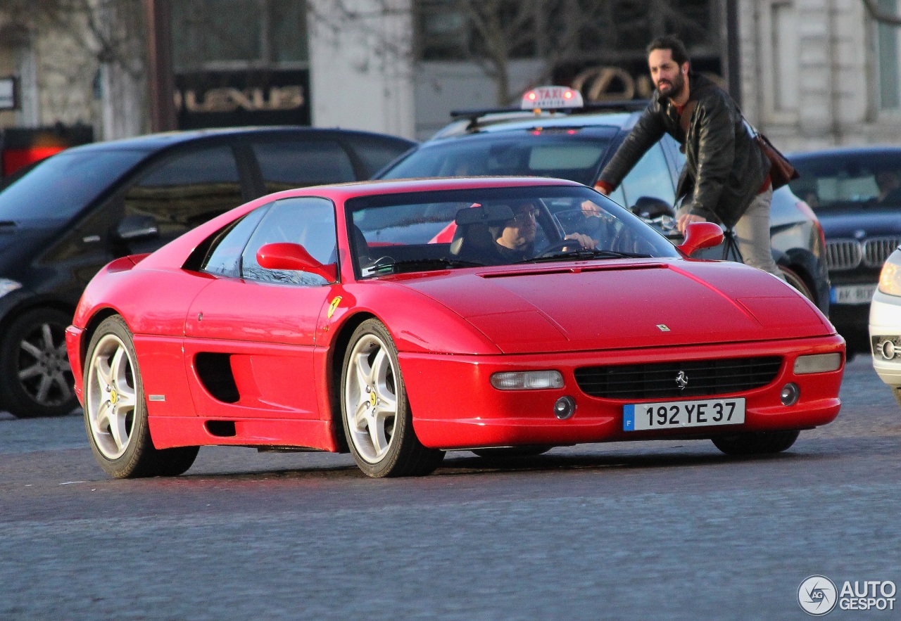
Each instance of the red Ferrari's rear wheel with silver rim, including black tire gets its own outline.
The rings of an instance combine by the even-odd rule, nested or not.
[[[104,320],[91,337],[85,359],[85,428],[91,451],[97,464],[116,479],[185,473],[199,447],[153,446],[137,360],[125,321],[118,315]]]

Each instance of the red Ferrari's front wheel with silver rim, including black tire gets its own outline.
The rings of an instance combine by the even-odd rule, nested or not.
[[[344,436],[363,473],[422,476],[441,464],[444,452],[416,437],[397,348],[380,321],[363,321],[350,337],[340,390]]]

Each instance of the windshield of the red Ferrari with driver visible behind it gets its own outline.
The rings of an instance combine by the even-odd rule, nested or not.
[[[678,257],[654,229],[576,186],[378,194],[346,205],[358,277],[573,259]]]

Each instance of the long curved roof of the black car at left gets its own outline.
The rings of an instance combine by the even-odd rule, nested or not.
[[[387,134],[378,134],[371,131],[362,130],[341,130],[338,128],[318,128],[307,127],[303,125],[272,125],[260,127],[225,127],[210,128],[203,130],[176,130],[162,131],[159,133],[146,134],[143,136],[135,136],[133,138],[123,138],[115,140],[105,140],[102,142],[92,142],[90,144],[81,145],[79,147],[68,148],[68,151],[92,151],[107,149],[126,149],[139,150],[146,152],[154,152],[173,145],[182,144],[191,141],[214,140],[228,137],[266,137],[266,136],[289,136],[289,135],[307,135],[307,136],[356,136],[359,138],[371,137],[377,139],[390,139],[398,142],[406,142],[409,146],[414,146],[416,142],[401,138],[399,136],[389,136]]]

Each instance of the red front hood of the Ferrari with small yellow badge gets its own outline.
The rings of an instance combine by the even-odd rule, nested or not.
[[[730,263],[510,266],[403,284],[456,311],[510,354],[834,333],[787,284]]]

